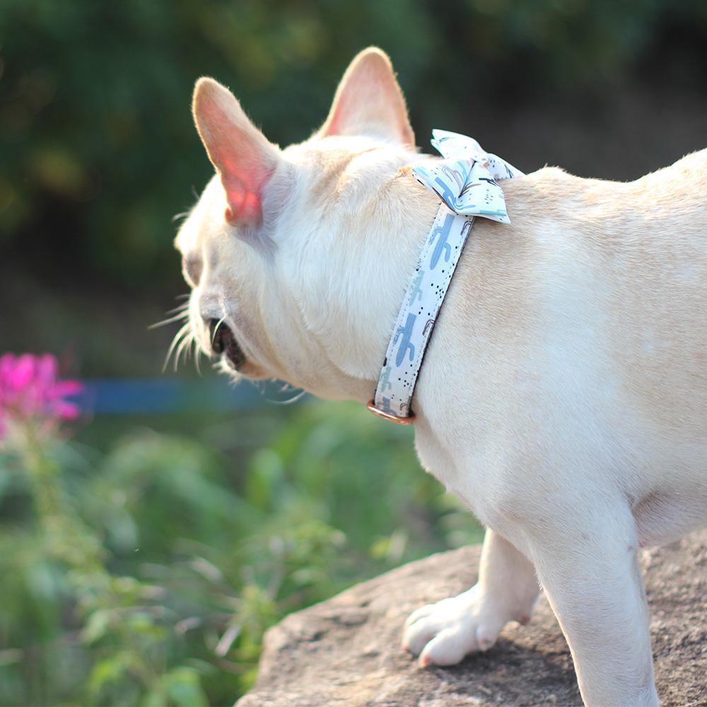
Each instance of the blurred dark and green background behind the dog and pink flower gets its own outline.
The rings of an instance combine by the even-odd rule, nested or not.
[[[52,351],[93,386],[54,454],[124,602],[81,612],[0,457],[0,703],[232,703],[287,612],[480,539],[410,431],[162,373],[175,327],[147,328],[186,291],[172,217],[211,173],[194,80],[288,144],[371,44],[419,144],[441,127],[619,180],[707,146],[703,0],[0,0],[0,353]]]

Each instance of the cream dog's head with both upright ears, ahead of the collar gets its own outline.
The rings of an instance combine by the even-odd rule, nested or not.
[[[199,346],[236,375],[358,397],[342,378],[378,377],[409,265],[404,247],[381,262],[386,239],[421,217],[405,204],[414,135],[390,60],[358,54],[322,128],[286,149],[211,78],[193,112],[216,168],[176,240]]]

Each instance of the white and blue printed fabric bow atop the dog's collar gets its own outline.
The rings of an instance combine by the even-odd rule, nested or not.
[[[466,135],[433,130],[431,144],[443,159],[414,167],[416,179],[455,214],[510,223],[498,181],[523,173],[498,155],[484,152],[476,140]]]

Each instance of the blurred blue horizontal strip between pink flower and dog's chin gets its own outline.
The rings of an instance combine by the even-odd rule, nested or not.
[[[297,390],[280,381],[256,387],[226,380],[170,380],[169,378],[83,380],[76,402],[93,414],[165,414],[194,411],[250,410],[267,403],[298,402]]]

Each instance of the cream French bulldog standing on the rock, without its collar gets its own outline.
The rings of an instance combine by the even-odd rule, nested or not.
[[[390,61],[359,54],[284,150],[211,78],[194,119],[217,173],[177,236],[201,348],[366,403],[438,209]],[[413,402],[421,462],[488,528],[479,583],[414,612],[403,645],[423,666],[486,650],[539,583],[585,703],[655,705],[636,553],[707,517],[707,151],[503,189],[512,223],[474,224]]]

